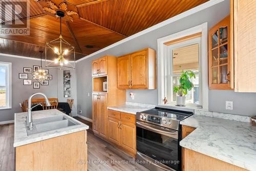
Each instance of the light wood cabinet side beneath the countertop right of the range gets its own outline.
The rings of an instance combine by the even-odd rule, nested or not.
[[[246,171],[247,169],[184,148],[185,171]]]

